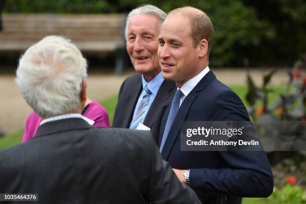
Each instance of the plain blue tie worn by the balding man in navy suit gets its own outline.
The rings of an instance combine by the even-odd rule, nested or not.
[[[174,98],[172,100],[172,103],[171,103],[171,108],[170,108],[170,111],[169,111],[169,115],[168,115],[168,119],[167,119],[167,122],[166,122],[166,125],[164,127],[164,131],[163,131],[163,134],[162,134],[162,139],[161,139],[161,143],[160,143],[160,147],[159,147],[159,151],[161,152],[162,150],[162,147],[164,145],[164,142],[168,136],[168,133],[169,133],[169,130],[170,130],[170,127],[173,123],[173,120],[176,116],[176,113],[178,111],[178,108],[179,108],[179,100],[180,98],[183,96],[184,94],[181,92],[180,89],[177,89],[176,92],[175,92],[175,95],[174,95]]]

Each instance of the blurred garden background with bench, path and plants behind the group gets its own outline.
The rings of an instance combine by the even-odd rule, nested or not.
[[[21,141],[31,111],[14,83],[17,60],[49,34],[67,36],[81,49],[89,62],[88,97],[112,121],[119,86],[133,73],[126,13],[144,3],[165,12],[185,5],[205,11],[214,25],[209,67],[240,96],[251,119],[305,124],[305,0],[0,0],[0,149]],[[267,155],[274,192],[243,203],[306,203],[305,151]]]

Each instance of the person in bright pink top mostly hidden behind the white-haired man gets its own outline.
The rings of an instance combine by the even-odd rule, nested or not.
[[[102,105],[94,100],[90,100],[89,98],[86,99],[86,104],[82,111],[82,115],[93,120],[94,126],[109,127],[107,111]],[[25,129],[21,140],[22,143],[34,136],[40,122],[40,116],[35,111],[32,111],[25,122]]]

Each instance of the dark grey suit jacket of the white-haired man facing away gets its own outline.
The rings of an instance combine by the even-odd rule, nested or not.
[[[81,118],[42,124],[0,151],[0,192],[32,203],[199,203],[162,160],[149,131],[99,128]]]

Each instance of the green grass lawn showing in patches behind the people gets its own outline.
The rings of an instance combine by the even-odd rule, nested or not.
[[[237,93],[237,95],[239,95],[239,97],[242,99],[243,103],[245,105],[247,105],[247,103],[244,99],[245,95],[247,93],[246,86],[233,85],[233,86],[230,86],[230,88],[232,88],[233,91],[235,91]],[[284,92],[284,90],[285,90],[285,88],[281,87],[281,86],[277,86],[275,89],[276,89],[277,92]],[[269,94],[269,101],[273,102],[273,101],[275,101],[276,98],[277,98],[277,93],[270,93]],[[117,95],[106,98],[104,100],[99,100],[98,102],[101,105],[103,105],[105,107],[105,109],[107,110],[109,121],[110,121],[110,124],[111,124],[112,119],[113,119],[114,109],[115,109],[115,106],[117,104]],[[261,105],[261,104],[258,103],[257,105]],[[22,133],[23,133],[23,129],[15,132],[13,134],[9,134],[9,135],[6,135],[4,137],[0,137],[0,150],[20,143]]]

